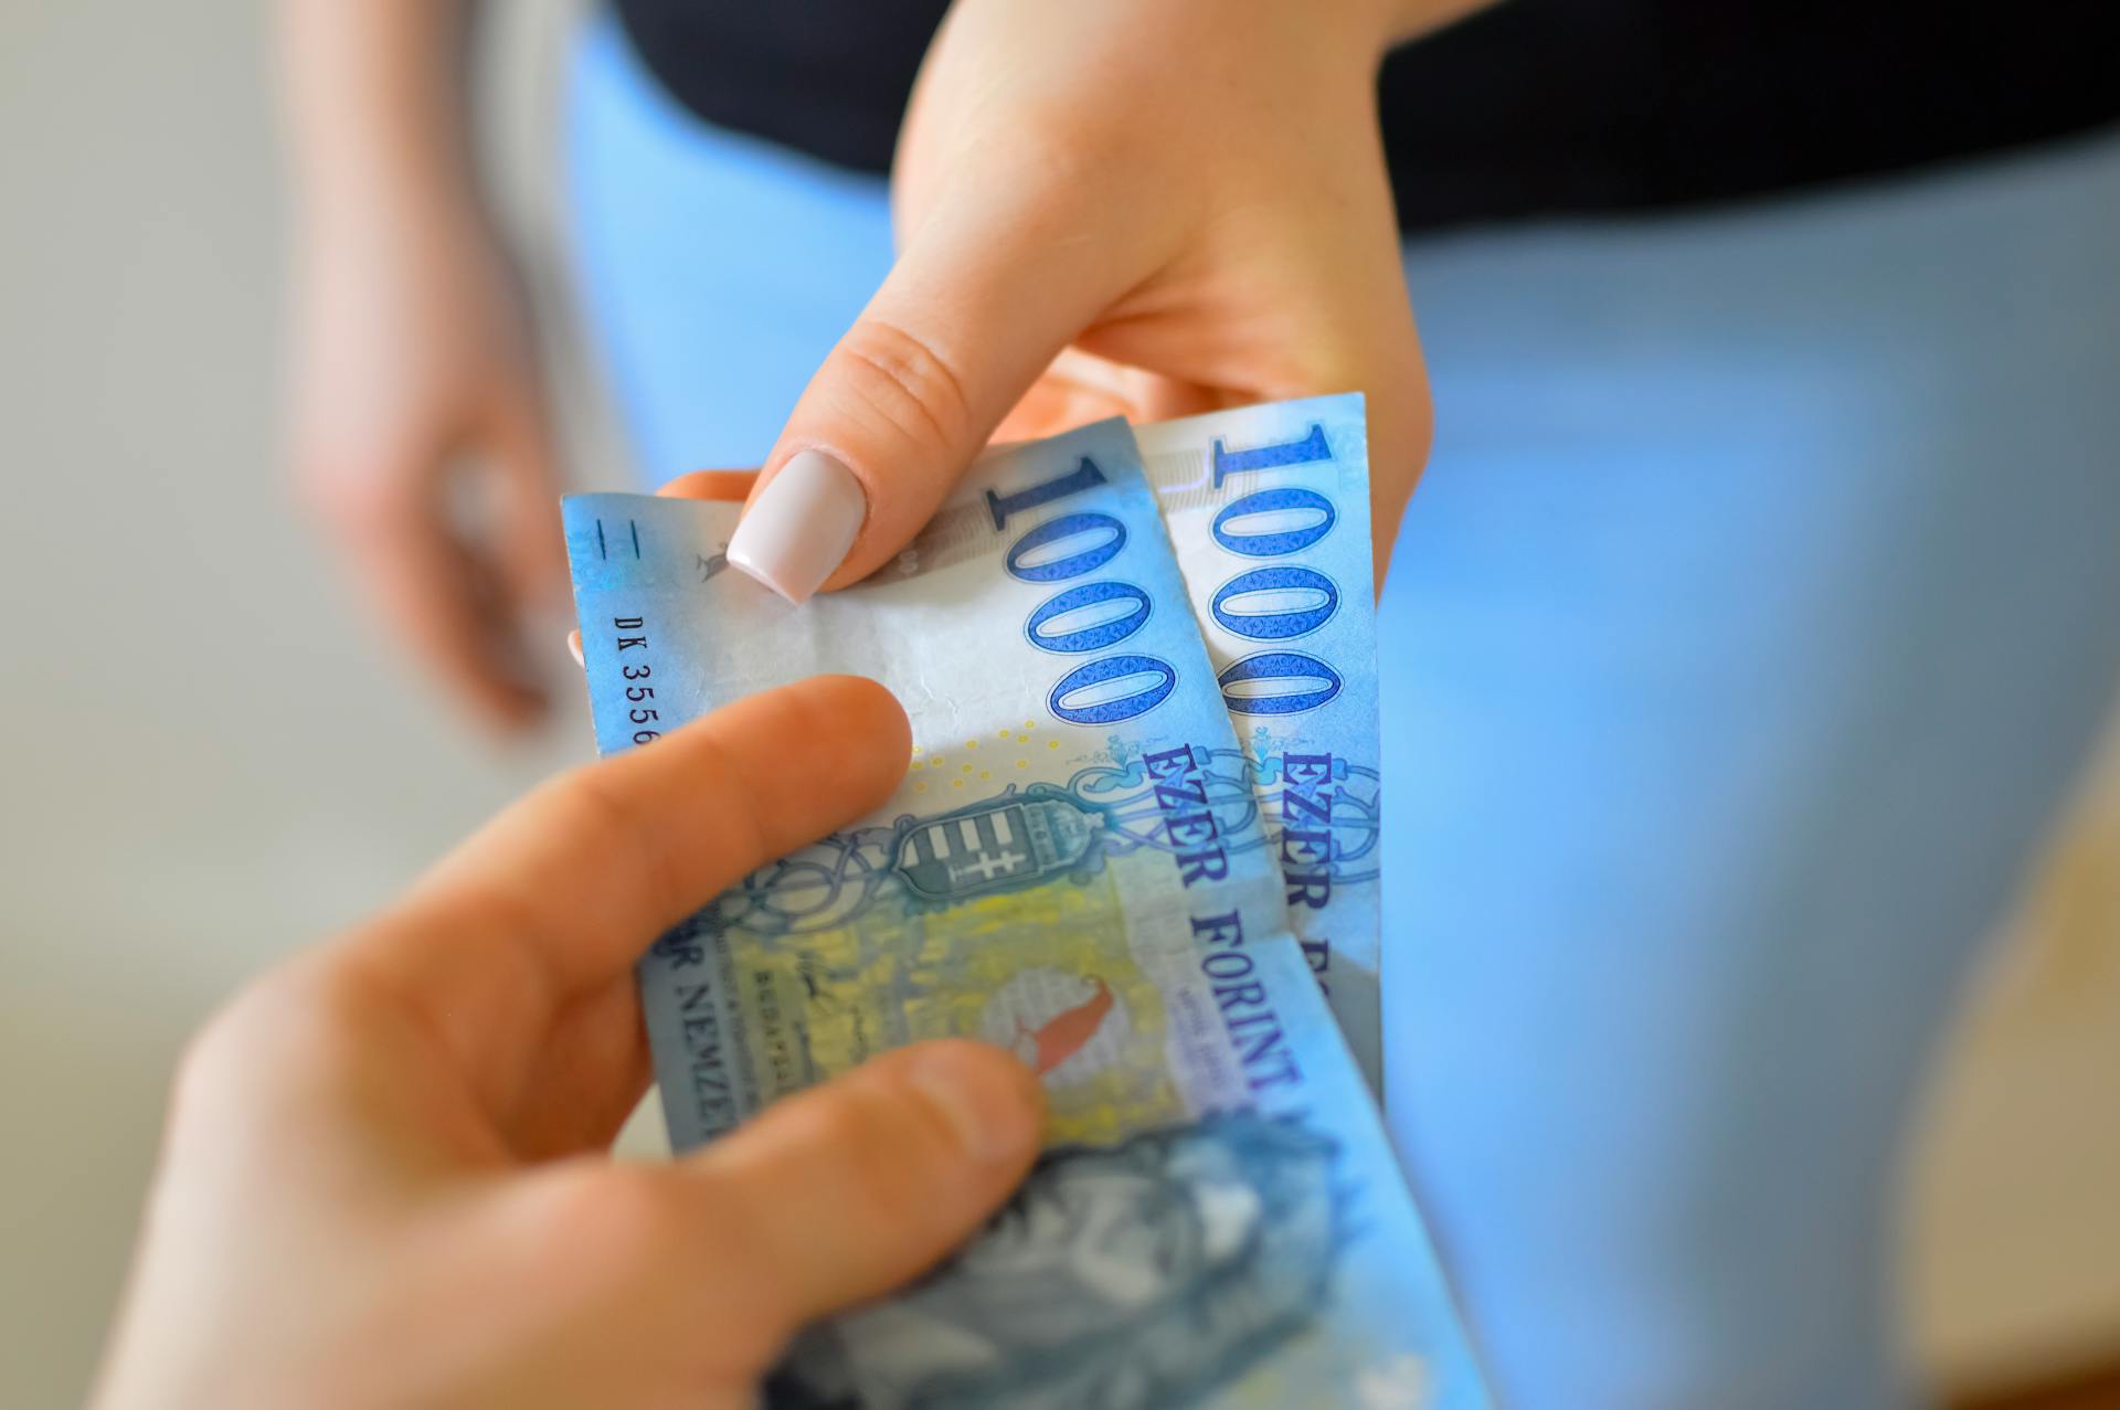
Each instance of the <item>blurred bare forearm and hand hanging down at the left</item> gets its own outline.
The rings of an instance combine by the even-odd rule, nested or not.
[[[545,710],[526,625],[564,600],[530,307],[464,114],[464,0],[288,0],[290,452],[305,503],[426,666],[496,729]]]

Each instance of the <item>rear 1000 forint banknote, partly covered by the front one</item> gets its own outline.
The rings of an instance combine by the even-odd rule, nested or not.
[[[1363,399],[1278,401],[1134,435],[1244,748],[1289,924],[1370,1090],[1382,1092]]]

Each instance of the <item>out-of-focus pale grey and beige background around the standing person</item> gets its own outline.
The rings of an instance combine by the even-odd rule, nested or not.
[[[494,8],[490,157],[555,284],[575,6]],[[290,503],[265,6],[0,0],[0,1404],[64,1406],[184,1035],[587,757],[589,721],[505,753],[471,736]],[[572,479],[617,486],[551,333]],[[2120,1404],[2092,1380],[2120,1363],[2116,1073],[2120,742],[1997,935],[1910,1162],[1906,1336],[1959,1404]]]

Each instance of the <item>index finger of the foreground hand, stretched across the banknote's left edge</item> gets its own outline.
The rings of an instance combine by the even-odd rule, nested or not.
[[[352,946],[481,1083],[507,1081],[570,1001],[621,980],[666,929],[878,808],[909,751],[905,712],[873,681],[740,700],[545,785]]]

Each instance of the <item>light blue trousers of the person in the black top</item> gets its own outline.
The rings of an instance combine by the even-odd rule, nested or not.
[[[638,473],[755,464],[882,182],[611,25],[568,146]],[[1895,1404],[1910,1103],[2120,672],[2120,142],[1406,261],[1389,1117],[1497,1391]]]

